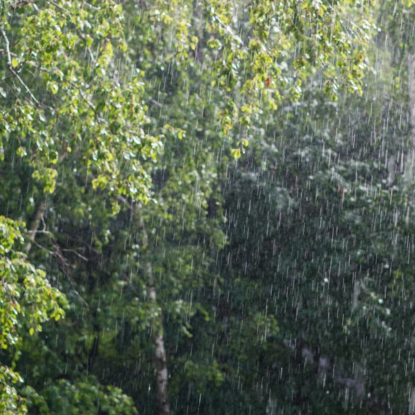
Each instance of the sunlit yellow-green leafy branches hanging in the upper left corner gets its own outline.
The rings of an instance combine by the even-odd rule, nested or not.
[[[1,89],[0,148],[4,153],[4,141],[16,141],[17,155],[50,193],[68,158],[94,188],[111,194],[116,209],[118,194],[149,196],[160,141],[144,130],[142,74],[115,63],[129,62],[122,9],[95,3],[28,2],[16,9],[3,2],[3,68],[10,75]],[[10,45],[10,36],[17,42]]]

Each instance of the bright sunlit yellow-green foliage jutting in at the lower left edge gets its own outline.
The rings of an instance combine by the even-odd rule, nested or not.
[[[14,250],[18,243],[24,243],[23,226],[24,223],[0,216],[0,409],[3,414],[26,414],[27,410],[14,386],[23,380],[12,369],[19,358],[19,333],[33,335],[42,331],[44,322],[64,316],[66,306],[64,295],[50,286],[44,271],[30,264],[23,252]],[[10,362],[12,367],[5,362]]]

